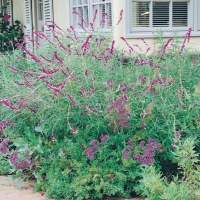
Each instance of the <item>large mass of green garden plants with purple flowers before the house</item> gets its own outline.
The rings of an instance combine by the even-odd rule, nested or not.
[[[144,52],[121,37],[125,51],[109,33],[52,23],[53,40],[35,32],[43,45],[26,40],[0,57],[0,173],[19,185],[35,179],[55,199],[181,199],[182,189],[197,198],[200,57],[185,48],[191,29],[183,41],[160,32],[147,56],[154,47],[142,38]]]

